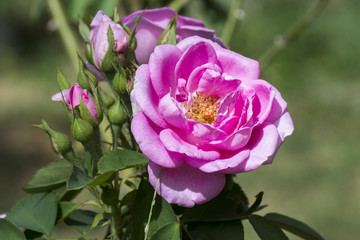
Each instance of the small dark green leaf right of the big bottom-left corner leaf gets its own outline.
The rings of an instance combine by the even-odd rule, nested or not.
[[[76,232],[85,235],[91,230],[95,216],[95,212],[78,209],[73,211],[64,222]]]

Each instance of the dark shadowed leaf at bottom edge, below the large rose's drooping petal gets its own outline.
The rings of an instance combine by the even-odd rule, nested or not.
[[[207,222],[196,224],[190,234],[193,239],[242,240],[244,239],[244,228],[240,220]]]

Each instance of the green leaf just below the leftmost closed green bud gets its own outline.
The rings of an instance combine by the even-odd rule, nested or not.
[[[58,159],[40,168],[23,189],[29,193],[36,193],[58,188],[69,178],[72,168],[71,162]]]

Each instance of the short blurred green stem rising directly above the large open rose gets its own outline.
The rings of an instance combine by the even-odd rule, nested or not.
[[[222,33],[222,40],[227,46],[230,45],[230,41],[232,39],[236,27],[236,23],[239,20],[239,18],[237,17],[237,12],[241,10],[241,5],[242,5],[242,0],[233,0],[232,3],[230,4],[227,20]]]

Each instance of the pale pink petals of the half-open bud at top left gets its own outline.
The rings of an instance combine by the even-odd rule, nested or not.
[[[91,31],[89,42],[93,47],[93,58],[98,69],[102,69],[105,54],[109,48],[108,30],[114,34],[113,51],[118,54],[120,62],[124,61],[124,54],[127,49],[128,35],[125,30],[117,23],[112,21],[103,11],[98,11],[90,24]]]

